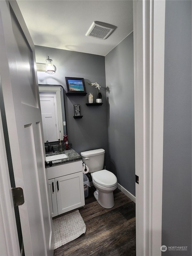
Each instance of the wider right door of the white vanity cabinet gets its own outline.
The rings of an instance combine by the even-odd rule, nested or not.
[[[85,205],[83,173],[73,173],[55,178],[58,214]]]

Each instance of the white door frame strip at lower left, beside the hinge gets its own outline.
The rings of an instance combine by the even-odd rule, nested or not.
[[[0,218],[1,223],[1,253],[4,255],[20,256],[19,239],[13,205],[13,196],[5,148],[4,132],[0,110]],[[3,255],[3,254],[1,254]]]

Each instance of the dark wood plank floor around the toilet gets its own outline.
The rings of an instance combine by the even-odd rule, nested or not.
[[[135,203],[118,188],[114,191],[115,206],[104,209],[89,188],[85,206],[79,212],[86,224],[86,233],[54,250],[54,256],[135,256]]]

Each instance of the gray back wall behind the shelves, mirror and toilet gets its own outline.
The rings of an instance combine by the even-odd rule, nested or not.
[[[97,82],[102,88],[102,106],[88,107],[88,94],[86,96],[68,96],[64,94],[67,135],[73,149],[80,153],[85,150],[103,148],[108,158],[108,132],[107,132],[107,100],[105,84],[105,59],[88,53],[79,53],[49,47],[35,46],[36,62],[45,63],[49,56],[53,60],[57,71],[53,75],[38,72],[38,83],[60,84],[67,92],[65,77],[83,77],[86,92],[93,92],[94,100],[97,98],[95,87],[88,83]],[[73,104],[80,104],[82,119],[74,119]]]

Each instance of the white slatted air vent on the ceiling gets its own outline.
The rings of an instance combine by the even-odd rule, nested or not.
[[[116,28],[116,26],[108,23],[94,21],[85,35],[105,40],[116,30]]]

